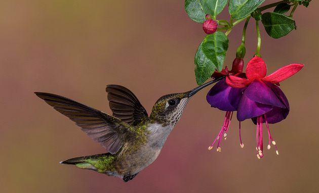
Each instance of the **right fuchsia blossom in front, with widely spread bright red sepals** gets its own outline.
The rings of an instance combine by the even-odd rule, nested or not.
[[[289,114],[289,103],[284,92],[275,84],[294,75],[304,65],[290,64],[274,73],[267,75],[267,67],[262,58],[255,56],[249,61],[246,67],[246,77],[236,75],[226,76],[227,85],[245,89],[237,106],[237,119],[244,121],[252,119],[257,125],[257,157],[263,157],[263,123],[266,123],[269,143],[267,149],[270,149],[270,143],[275,146],[268,123],[277,123],[284,120]],[[237,100],[237,99],[236,99]]]

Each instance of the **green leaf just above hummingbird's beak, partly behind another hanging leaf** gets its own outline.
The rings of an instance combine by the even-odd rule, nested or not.
[[[214,63],[209,60],[202,51],[202,44],[198,46],[195,54],[195,77],[198,85],[202,85],[215,72]]]

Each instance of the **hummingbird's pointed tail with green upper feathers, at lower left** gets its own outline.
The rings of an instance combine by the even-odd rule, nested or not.
[[[117,176],[114,168],[114,155],[110,153],[93,156],[77,157],[60,162],[61,164],[75,165],[81,169],[94,170],[109,176]]]

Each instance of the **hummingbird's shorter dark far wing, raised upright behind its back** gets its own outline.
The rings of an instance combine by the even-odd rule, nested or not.
[[[126,87],[107,85],[106,92],[114,117],[131,125],[137,125],[144,117],[148,117],[135,94]]]

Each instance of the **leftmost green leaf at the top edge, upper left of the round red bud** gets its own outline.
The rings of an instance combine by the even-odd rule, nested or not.
[[[190,19],[198,23],[204,23],[205,15],[203,9],[204,0],[186,0],[185,11]]]

